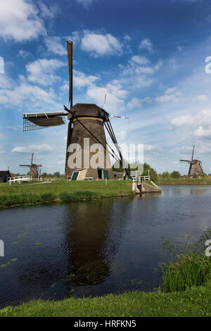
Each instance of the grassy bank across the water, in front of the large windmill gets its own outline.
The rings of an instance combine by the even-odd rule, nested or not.
[[[132,196],[132,182],[127,180],[66,182],[58,180],[39,185],[0,184],[0,206],[40,204],[52,201],[82,201],[104,196]]]

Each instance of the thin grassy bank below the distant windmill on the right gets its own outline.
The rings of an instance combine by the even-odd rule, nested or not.
[[[158,177],[157,185],[211,185],[211,176],[202,178],[162,178]]]

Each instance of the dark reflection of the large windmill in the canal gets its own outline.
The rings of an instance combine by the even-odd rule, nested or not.
[[[110,275],[125,233],[127,218],[121,215],[128,212],[128,202],[119,218],[113,216],[116,205],[109,199],[98,201],[95,208],[90,204],[65,207],[63,249],[68,256],[68,287],[98,285]]]

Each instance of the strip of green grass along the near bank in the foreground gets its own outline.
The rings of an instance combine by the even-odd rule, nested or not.
[[[11,316],[211,316],[211,283],[187,288],[184,292],[127,292],[92,299],[37,300],[0,310],[0,317]]]

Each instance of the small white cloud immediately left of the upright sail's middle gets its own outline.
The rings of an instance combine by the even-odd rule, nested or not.
[[[60,77],[55,75],[54,71],[64,65],[66,65],[66,63],[56,59],[48,60],[46,58],[39,58],[37,61],[26,65],[28,80],[44,86],[52,85],[56,80],[60,80]]]

